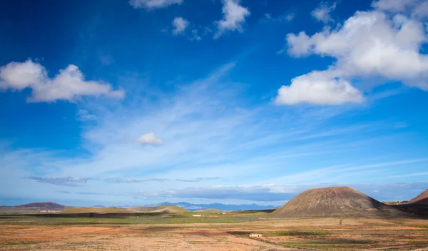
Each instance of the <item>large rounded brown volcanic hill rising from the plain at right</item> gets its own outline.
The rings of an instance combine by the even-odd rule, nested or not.
[[[332,187],[305,190],[272,212],[275,217],[352,216],[367,213],[399,214],[399,211],[354,188]]]

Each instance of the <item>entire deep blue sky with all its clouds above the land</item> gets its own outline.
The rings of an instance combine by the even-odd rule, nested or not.
[[[0,204],[428,188],[428,1],[2,1]]]

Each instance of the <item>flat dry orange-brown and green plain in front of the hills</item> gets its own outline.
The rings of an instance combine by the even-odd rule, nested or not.
[[[3,215],[0,250],[424,250],[428,220],[265,212]],[[85,216],[85,217],[83,217]],[[250,237],[260,233],[262,237]]]

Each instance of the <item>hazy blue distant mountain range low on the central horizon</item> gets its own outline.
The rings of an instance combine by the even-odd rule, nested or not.
[[[192,204],[192,203],[160,203],[157,205],[176,205],[180,208],[185,208],[190,211],[198,211],[198,210],[206,210],[206,209],[218,209],[218,210],[224,210],[224,211],[235,211],[235,210],[267,210],[272,208],[277,208],[273,205],[257,205],[257,204],[250,204],[250,205],[227,205],[227,204],[221,204],[221,203],[213,203],[213,204]],[[153,205],[152,205],[153,206]]]

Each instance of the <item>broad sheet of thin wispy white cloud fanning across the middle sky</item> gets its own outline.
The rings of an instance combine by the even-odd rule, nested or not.
[[[226,203],[239,198],[284,201],[300,190],[260,183],[295,184],[303,189],[337,180],[363,183],[385,171],[394,176],[422,173],[414,167],[425,164],[417,158],[424,148],[420,153],[394,148],[414,142],[417,135],[397,130],[390,121],[342,123],[365,112],[350,106],[255,105],[241,95],[245,84],[233,81],[230,73],[236,64],[226,63],[205,78],[180,83],[172,93],[155,90],[151,99],[130,93],[126,103],[115,106],[81,104],[80,109],[96,116],[96,121],[82,128],[81,146],[87,153],[70,157],[44,149],[0,148],[4,173],[0,190],[26,180],[26,190],[38,190],[53,199],[106,193],[100,198],[134,203],[142,198],[156,202],[157,195]],[[138,79],[131,81],[138,83]],[[147,132],[156,135],[144,143],[157,139],[163,144],[142,147],[136,143]],[[412,182],[420,181],[411,177]],[[382,182],[404,180],[391,177]],[[58,194],[52,185],[68,186],[70,194]],[[225,192],[230,193],[228,201],[220,198]],[[17,189],[9,194],[25,193]],[[110,193],[125,196],[109,198]]]

